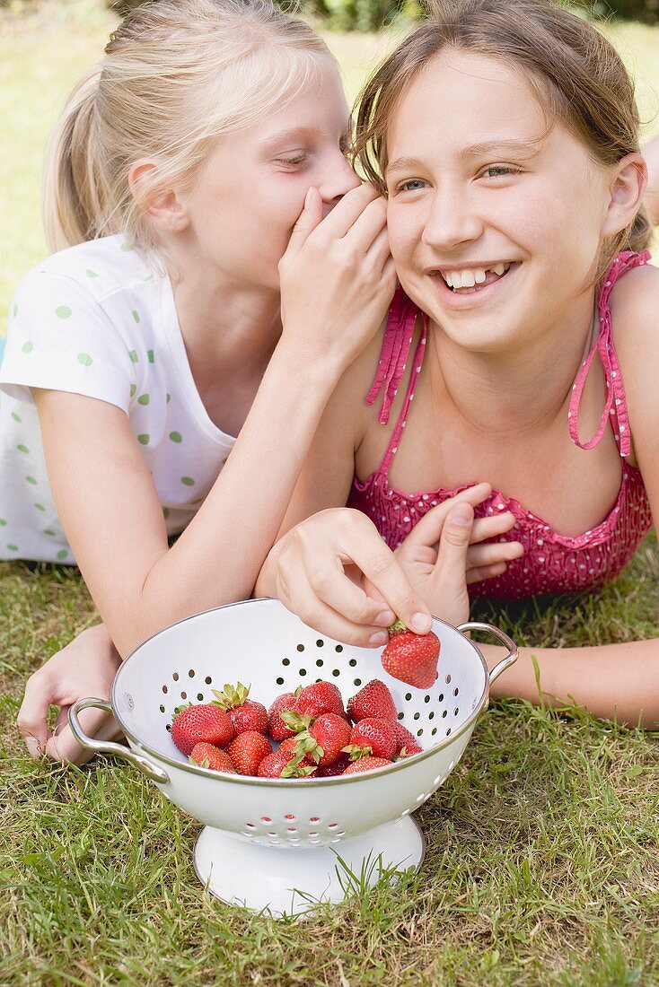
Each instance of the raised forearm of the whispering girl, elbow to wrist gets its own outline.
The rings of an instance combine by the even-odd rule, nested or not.
[[[248,597],[274,544],[302,462],[339,377],[276,351],[240,436],[205,502],[147,569],[129,620],[104,615],[125,653],[166,624]]]

